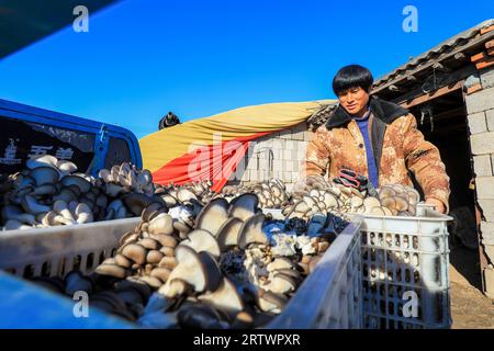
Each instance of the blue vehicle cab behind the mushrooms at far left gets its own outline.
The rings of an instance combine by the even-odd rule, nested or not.
[[[137,138],[125,128],[0,99],[0,173],[12,174],[37,155],[75,162],[97,176],[124,161],[142,168]]]

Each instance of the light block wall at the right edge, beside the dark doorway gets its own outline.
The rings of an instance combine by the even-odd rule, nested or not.
[[[481,244],[491,263],[484,270],[486,294],[494,297],[494,69],[480,71],[482,90],[467,95],[475,190],[485,220]]]

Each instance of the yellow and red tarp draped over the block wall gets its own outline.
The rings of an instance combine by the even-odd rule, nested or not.
[[[213,180],[220,191],[251,140],[294,126],[333,102],[254,105],[164,128],[139,140],[144,168],[159,184]]]

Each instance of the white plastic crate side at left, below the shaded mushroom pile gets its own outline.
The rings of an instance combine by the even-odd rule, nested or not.
[[[91,272],[113,256],[119,239],[139,220],[137,217],[0,231],[0,270],[24,278],[64,278],[75,269]]]

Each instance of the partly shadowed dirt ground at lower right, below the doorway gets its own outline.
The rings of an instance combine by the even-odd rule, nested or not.
[[[481,293],[479,254],[463,247],[450,253],[453,329],[494,329],[494,301]]]

